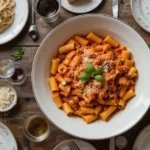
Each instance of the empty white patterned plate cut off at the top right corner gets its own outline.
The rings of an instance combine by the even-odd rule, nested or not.
[[[150,0],[130,0],[130,2],[136,22],[150,32]]]

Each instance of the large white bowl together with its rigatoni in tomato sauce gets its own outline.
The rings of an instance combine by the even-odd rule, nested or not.
[[[89,34],[90,32],[91,34]],[[94,41],[93,36],[91,37],[93,34],[94,37],[99,37],[100,39],[98,38],[97,41]],[[85,45],[78,41],[78,39],[82,38],[85,39],[81,40],[82,42],[84,41]],[[110,44],[110,41],[114,40],[116,41],[115,43],[119,43],[119,46],[116,44],[115,47],[112,46],[112,43]],[[85,41],[88,41],[88,44]],[[99,47],[100,51],[95,51],[94,47]],[[104,47],[107,47],[108,51],[107,48],[104,51]],[[87,57],[90,56],[89,59],[84,56],[83,50],[85,48],[86,51],[91,53],[91,56],[90,53],[87,53]],[[92,54],[92,49],[94,54]],[[71,57],[70,53],[74,56]],[[95,62],[97,57],[106,59],[112,55],[114,58],[111,62]],[[75,137],[99,140],[119,135],[133,127],[149,108],[149,55],[150,51],[144,40],[131,27],[119,20],[95,14],[69,19],[48,34],[34,58],[32,86],[37,103],[54,125]],[[77,58],[77,56],[85,58],[84,60],[82,58],[82,61],[77,59],[80,63],[71,72],[71,67],[69,66],[72,64],[71,61],[74,60],[74,57]],[[67,64],[68,61],[70,61],[69,65]],[[119,63],[121,63],[121,66]],[[58,65],[58,68],[55,65]],[[67,67],[67,72],[64,74],[66,67],[63,65]],[[109,66],[115,72],[115,80],[113,76],[106,75],[111,73]],[[57,68],[56,70],[55,67]],[[108,72],[106,72],[107,69]],[[130,69],[131,72],[128,74]],[[71,74],[75,76],[73,78],[74,84],[69,83]],[[109,77],[113,80],[110,79],[109,81]],[[68,79],[66,80],[66,78]],[[52,82],[54,86],[51,89],[48,81]],[[89,96],[88,93],[91,88],[88,88],[88,86],[96,86],[98,91],[104,89],[105,93],[104,85],[107,83],[108,86],[113,86],[111,90],[115,91],[116,88],[116,91],[111,93],[111,90],[106,90],[108,95],[104,94],[105,97],[102,95],[103,98],[101,99],[99,97],[101,97],[102,92],[98,93],[96,90],[92,91],[93,94]],[[78,91],[80,88],[82,89],[81,97],[76,93],[76,90]],[[68,94],[67,91],[69,95],[66,95]],[[73,95],[70,93],[73,93]],[[124,97],[125,95],[127,95],[126,98]],[[68,99],[66,99],[66,96],[68,96]],[[74,103],[75,107],[73,106]],[[85,104],[88,105],[87,103],[90,104],[90,107],[85,107]],[[58,109],[57,105],[60,109]],[[68,110],[68,105],[71,106],[71,111]],[[63,112],[63,108],[69,116]],[[109,113],[105,112],[105,110],[109,110]],[[85,118],[84,116],[88,117]]]

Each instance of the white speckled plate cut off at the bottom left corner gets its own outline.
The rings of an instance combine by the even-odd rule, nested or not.
[[[0,150],[18,150],[12,132],[2,122],[0,122]]]

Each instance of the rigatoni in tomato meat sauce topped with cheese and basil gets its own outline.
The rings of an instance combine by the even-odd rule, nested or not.
[[[52,59],[49,84],[58,108],[86,123],[107,120],[135,96],[131,52],[111,36],[74,36]]]

